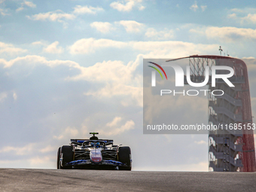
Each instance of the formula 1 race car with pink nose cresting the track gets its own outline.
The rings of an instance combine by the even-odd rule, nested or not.
[[[59,148],[57,169],[132,169],[130,147],[90,134],[90,139],[71,139],[70,145]]]

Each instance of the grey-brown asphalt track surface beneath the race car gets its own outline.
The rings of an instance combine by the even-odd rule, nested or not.
[[[256,172],[0,169],[0,191],[256,191]]]

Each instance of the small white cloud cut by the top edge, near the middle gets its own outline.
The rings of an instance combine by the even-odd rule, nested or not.
[[[116,9],[117,11],[132,11],[134,7],[138,7],[139,11],[142,11],[145,9],[144,6],[140,5],[142,0],[126,0],[125,2],[112,2],[110,7]]]

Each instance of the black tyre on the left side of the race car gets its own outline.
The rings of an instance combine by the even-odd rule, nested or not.
[[[62,163],[59,163],[60,169],[72,169],[72,166],[66,166],[66,163],[74,160],[73,147],[70,145],[63,145],[60,149],[60,154],[62,154]]]

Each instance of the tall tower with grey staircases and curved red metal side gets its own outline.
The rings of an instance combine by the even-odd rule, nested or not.
[[[245,62],[230,56],[194,55],[183,58],[189,59],[191,81],[198,83],[204,81],[206,66],[209,66],[209,74],[212,74],[212,66],[230,66],[234,70],[229,80],[235,87],[229,87],[222,79],[216,79],[215,87],[212,87],[209,78],[209,90],[224,91],[222,96],[213,96],[209,92],[209,124],[227,126],[227,130],[209,132],[209,171],[255,172],[254,133],[253,130],[244,129],[252,123]],[[225,70],[216,73],[225,74]],[[233,126],[240,126],[242,130]]]

